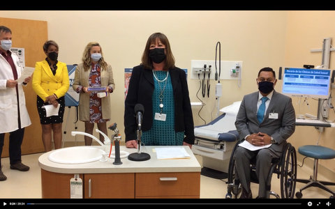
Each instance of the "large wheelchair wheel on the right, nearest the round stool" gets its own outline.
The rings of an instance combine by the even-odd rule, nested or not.
[[[297,183],[297,153],[290,143],[285,145],[278,166],[281,173],[281,198],[293,199]]]

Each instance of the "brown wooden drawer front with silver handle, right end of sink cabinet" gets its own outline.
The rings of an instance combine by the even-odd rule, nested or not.
[[[135,198],[200,198],[200,172],[135,173]]]

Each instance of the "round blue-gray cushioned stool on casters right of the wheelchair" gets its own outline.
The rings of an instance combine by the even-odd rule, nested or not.
[[[318,160],[319,159],[327,160],[335,158],[335,150],[324,146],[305,145],[299,147],[298,152],[306,157],[314,158],[314,166],[313,166],[313,177],[311,177],[311,179],[309,180],[297,179],[297,182],[306,183],[307,185],[301,188],[300,192],[297,192],[295,196],[297,196],[297,198],[301,198],[302,190],[307,189],[308,187],[319,187],[320,189],[324,189],[327,192],[331,193],[332,196],[330,196],[330,198],[334,198],[335,193],[325,185],[335,185],[335,183],[319,181],[317,180],[317,176],[318,176]]]

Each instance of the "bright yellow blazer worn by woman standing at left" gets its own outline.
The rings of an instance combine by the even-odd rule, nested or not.
[[[43,101],[52,94],[56,94],[57,98],[64,96],[70,86],[66,63],[58,61],[56,74],[53,75],[47,61],[36,62],[32,86]]]

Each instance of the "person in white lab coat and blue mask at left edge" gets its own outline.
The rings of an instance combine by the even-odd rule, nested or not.
[[[20,84],[15,81],[20,78],[23,68],[16,54],[9,50],[11,39],[10,29],[0,26],[0,156],[5,133],[10,133],[10,169],[28,171],[29,167],[21,162],[21,144],[24,127],[31,125],[31,121],[22,86],[27,85],[31,77],[24,79],[24,82]],[[0,180],[6,180],[6,176],[1,171],[1,160]]]

